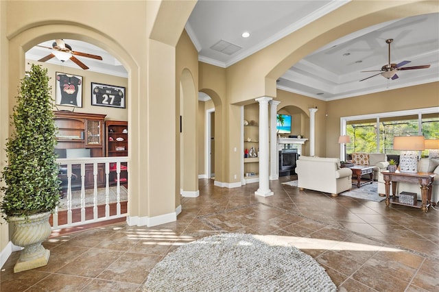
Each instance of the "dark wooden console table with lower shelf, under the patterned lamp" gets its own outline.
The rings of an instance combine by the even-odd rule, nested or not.
[[[433,180],[436,173],[433,172],[418,172],[418,173],[403,173],[400,171],[390,172],[382,171],[385,182],[385,206],[392,204],[399,204],[404,206],[411,206],[421,208],[424,212],[428,212],[428,207],[431,205],[431,188],[433,188]],[[392,198],[390,198],[390,182],[392,182]],[[398,182],[408,182],[410,184],[420,185],[420,195],[422,196],[422,205],[418,206],[404,204],[399,202],[399,197],[396,197],[396,184]]]

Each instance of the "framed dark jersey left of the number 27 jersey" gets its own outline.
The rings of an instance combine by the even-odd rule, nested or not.
[[[55,102],[82,108],[82,76],[56,72]]]

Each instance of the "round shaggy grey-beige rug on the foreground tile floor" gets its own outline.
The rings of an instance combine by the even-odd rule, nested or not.
[[[323,267],[270,236],[220,234],[178,247],[143,291],[336,291]]]

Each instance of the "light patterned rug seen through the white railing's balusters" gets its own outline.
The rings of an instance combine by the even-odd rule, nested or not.
[[[106,188],[97,188],[97,205],[104,205],[106,202]],[[94,190],[89,188],[85,190],[85,206],[93,206],[94,202]],[[120,202],[127,201],[128,191],[125,186],[121,186]],[[117,186],[110,186],[108,188],[108,202],[117,202]],[[81,191],[71,192],[71,208],[81,208]],[[60,205],[58,210],[67,210],[67,193],[64,194],[64,198],[60,199]]]

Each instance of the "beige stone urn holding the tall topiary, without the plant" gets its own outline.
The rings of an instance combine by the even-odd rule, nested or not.
[[[45,212],[27,218],[8,217],[8,221],[14,223],[12,243],[24,247],[14,266],[14,273],[47,265],[50,251],[46,250],[41,243],[51,233],[50,215],[51,212]]]

